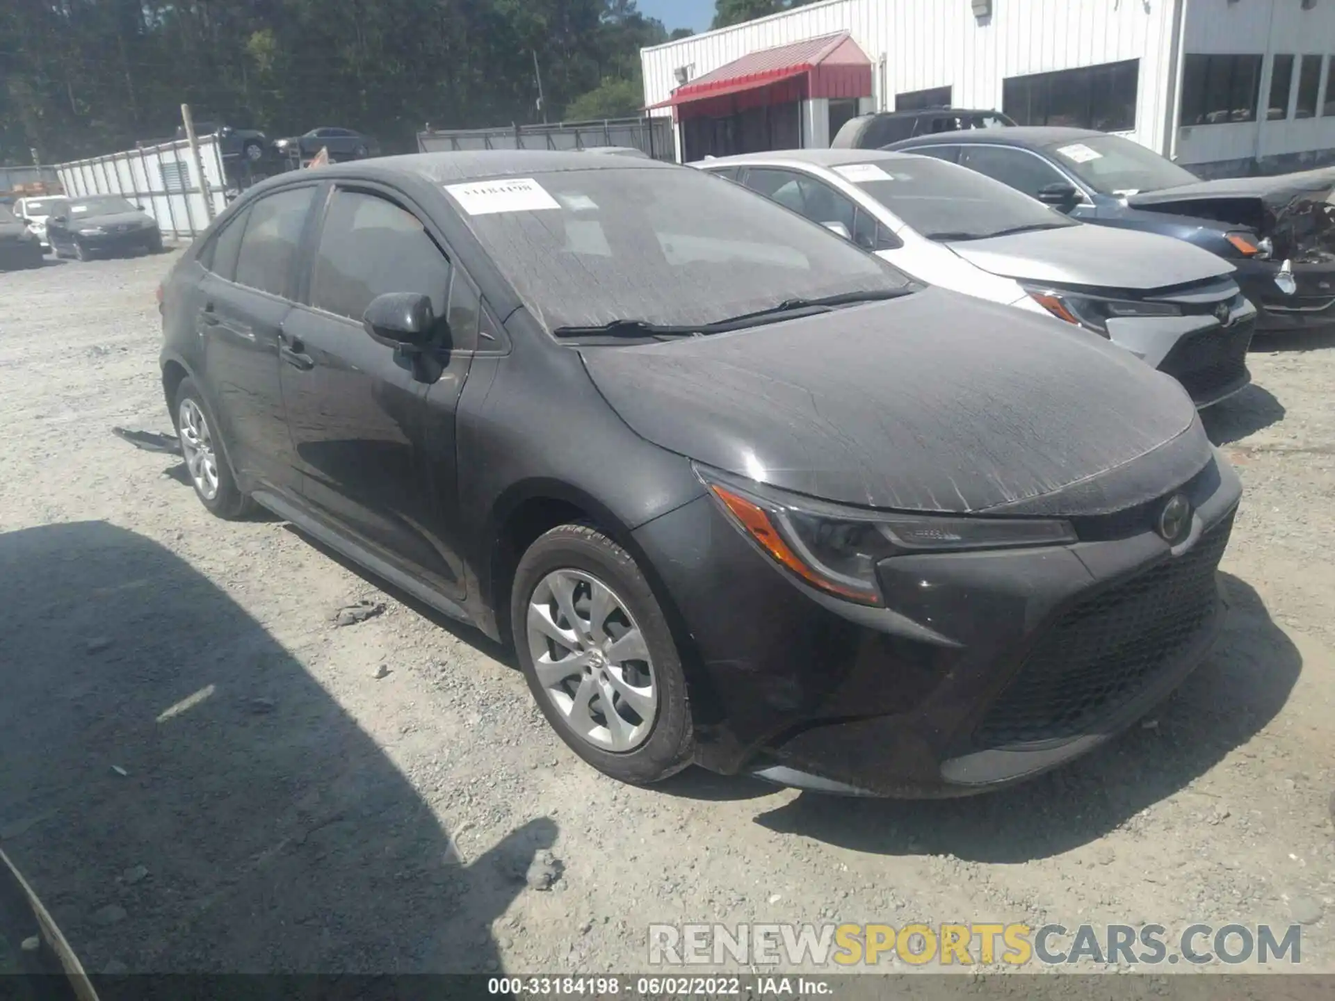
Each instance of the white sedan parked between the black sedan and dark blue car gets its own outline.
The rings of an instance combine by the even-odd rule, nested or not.
[[[1256,308],[1232,264],[1153,234],[1085,226],[928,156],[793,149],[698,164],[924,282],[1045,312],[1180,382],[1197,407],[1251,382]]]

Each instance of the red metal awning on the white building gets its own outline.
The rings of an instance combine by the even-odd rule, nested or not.
[[[840,32],[745,55],[682,84],[672,97],[650,108],[680,108],[794,77],[806,77],[806,97],[872,96],[872,60],[848,32]]]

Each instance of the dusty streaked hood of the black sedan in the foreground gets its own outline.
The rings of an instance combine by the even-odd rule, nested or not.
[[[1171,378],[1080,328],[940,288],[581,354],[647,440],[866,507],[1100,514],[1212,458]]]

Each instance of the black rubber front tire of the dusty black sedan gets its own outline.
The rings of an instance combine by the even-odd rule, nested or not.
[[[558,586],[561,582],[574,582],[571,610],[577,618],[581,618],[582,610],[589,610],[589,619],[581,618],[577,630],[562,629],[561,623],[566,622],[569,626],[569,619],[558,607],[561,602],[550,586],[553,582]],[[598,647],[597,641],[593,641],[579,647],[586,651],[583,659],[595,658],[593,666],[566,667],[570,671],[566,681],[558,682],[559,671],[555,670],[547,670],[539,677],[534,659],[535,643],[537,655],[546,654],[549,663],[551,659],[567,659],[566,654],[581,654],[577,647],[562,647],[555,639],[549,639],[550,631],[530,627],[530,605],[537,602],[547,609],[558,631],[587,639],[593,635],[594,586],[607,589],[615,609],[610,615],[603,614],[602,622],[597,625],[597,634],[606,638],[605,645]],[[510,597],[510,622],[529,689],[547,722],[575,754],[603,774],[631,785],[658,782],[692,762],[694,731],[681,657],[658,599],[626,550],[587,525],[562,525],[546,533],[519,559]],[[619,662],[614,655],[602,658],[603,651],[615,651],[614,641],[627,637],[633,629],[638,629],[643,641],[639,649],[647,657],[625,657]],[[555,658],[551,657],[553,649],[557,650]],[[595,649],[597,653],[589,654],[589,649]],[[625,646],[623,653],[634,654],[637,649]],[[610,681],[603,681],[609,677]],[[563,701],[570,703],[569,707],[558,703],[557,697],[546,687],[547,683],[562,686]],[[603,691],[613,693],[615,726],[609,725],[611,721],[602,710]],[[653,707],[646,710],[646,715],[653,718],[635,711],[635,707],[646,707],[646,691],[653,695]],[[634,693],[635,703],[626,702],[623,693]],[[581,702],[589,711],[579,713]],[[597,723],[599,717],[603,719],[601,726]],[[635,718],[639,719],[638,723],[634,722]],[[579,726],[581,719],[585,722],[583,729]],[[586,733],[590,726],[593,733]],[[618,735],[622,739],[618,741]]]

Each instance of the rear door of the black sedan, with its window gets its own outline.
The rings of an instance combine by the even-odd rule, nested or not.
[[[296,455],[279,383],[283,322],[299,272],[298,251],[318,184],[283,188],[228,220],[202,255],[196,330],[206,392],[228,456],[247,488],[296,494]]]

